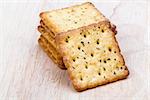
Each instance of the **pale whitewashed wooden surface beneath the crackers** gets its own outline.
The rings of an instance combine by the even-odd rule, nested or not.
[[[148,0],[93,2],[117,25],[117,40],[130,75],[84,92],[73,89],[67,72],[37,43],[39,13],[79,4],[79,0],[73,1],[0,1],[0,100],[150,100]]]

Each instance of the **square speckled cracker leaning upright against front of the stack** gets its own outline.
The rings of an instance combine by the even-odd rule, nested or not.
[[[58,49],[77,91],[107,84],[128,76],[115,33],[107,22],[60,33]]]

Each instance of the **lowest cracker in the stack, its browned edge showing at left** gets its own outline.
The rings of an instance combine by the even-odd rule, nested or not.
[[[59,67],[62,69],[65,69],[64,64],[62,62],[62,57],[60,54],[56,51],[55,48],[52,47],[50,43],[41,35],[38,40],[40,46],[43,48],[43,50],[47,53],[47,55],[56,63],[59,64]]]

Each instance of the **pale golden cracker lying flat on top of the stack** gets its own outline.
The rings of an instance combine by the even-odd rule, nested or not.
[[[47,27],[55,34],[77,29],[100,21],[108,21],[108,19],[105,18],[105,16],[90,2],[42,12],[40,13],[40,17]]]

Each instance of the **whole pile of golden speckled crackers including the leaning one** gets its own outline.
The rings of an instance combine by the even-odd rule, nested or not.
[[[67,69],[77,91],[129,75],[115,25],[92,3],[42,12],[40,18],[39,45],[58,67]]]

